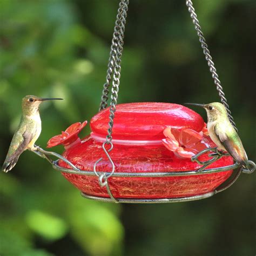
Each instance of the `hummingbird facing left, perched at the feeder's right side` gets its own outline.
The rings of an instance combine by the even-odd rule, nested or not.
[[[237,131],[235,131],[228,119],[226,107],[219,102],[210,104],[185,104],[204,107],[207,112],[207,130],[211,139],[217,145],[217,149],[227,151],[235,161],[250,170],[244,146],[242,146]]]

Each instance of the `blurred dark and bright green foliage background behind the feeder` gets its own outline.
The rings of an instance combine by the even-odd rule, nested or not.
[[[130,2],[118,102],[219,100],[185,1]],[[117,6],[116,0],[0,0],[1,163],[23,96],[65,99],[41,107],[42,147],[97,112]],[[194,6],[255,160],[255,1]],[[24,152],[14,170],[0,173],[0,255],[255,255],[254,177],[243,174],[206,200],[115,205],[83,199],[46,161]]]

